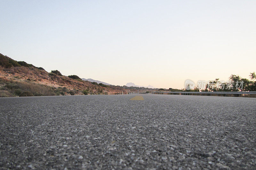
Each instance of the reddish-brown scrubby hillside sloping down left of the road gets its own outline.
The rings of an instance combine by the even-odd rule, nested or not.
[[[0,54],[0,97],[127,93],[120,86],[91,83],[59,73],[48,73],[42,67]]]

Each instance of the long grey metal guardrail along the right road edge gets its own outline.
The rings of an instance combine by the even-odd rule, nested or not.
[[[186,94],[256,94],[256,92],[154,92],[154,94],[186,93]]]

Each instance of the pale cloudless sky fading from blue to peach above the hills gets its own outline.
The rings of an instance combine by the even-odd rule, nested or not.
[[[0,53],[114,85],[256,71],[256,1],[0,1]]]

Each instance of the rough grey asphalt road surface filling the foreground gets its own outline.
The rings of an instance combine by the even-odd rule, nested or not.
[[[0,99],[0,169],[255,169],[256,99]]]

